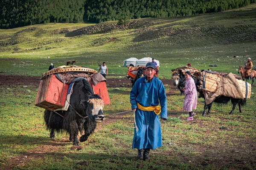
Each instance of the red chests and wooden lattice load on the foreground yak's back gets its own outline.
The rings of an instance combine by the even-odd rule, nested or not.
[[[67,110],[68,89],[71,89],[72,81],[79,77],[90,83],[93,93],[102,98],[104,105],[110,104],[106,79],[94,69],[72,65],[60,66],[41,75],[35,105],[48,110],[64,109],[66,105],[64,110]]]

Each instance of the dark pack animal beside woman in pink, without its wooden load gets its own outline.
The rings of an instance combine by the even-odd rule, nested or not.
[[[204,98],[204,92],[201,89],[199,89],[199,86],[201,85],[201,78],[199,76],[197,77],[197,76],[194,76],[194,75],[192,75],[192,78],[194,79],[196,89],[199,92],[198,98]],[[186,78],[181,78],[179,80],[179,83],[184,82],[182,84],[178,84],[178,85],[180,85],[180,89],[182,89],[186,85],[186,80],[184,80],[184,79],[186,79]],[[230,111],[229,114],[233,114],[234,109],[236,108],[236,104],[238,104],[239,112],[241,113],[242,112],[242,106],[244,106],[246,104],[246,99],[237,99],[237,98],[231,98],[231,97],[227,97],[227,96],[224,96],[224,95],[220,95],[220,96],[217,96],[210,104],[206,104],[206,102],[205,102],[204,111],[202,113],[202,116],[205,116],[205,115],[211,113],[211,107],[212,107],[213,102],[218,103],[218,104],[227,104],[229,101],[231,101],[231,103],[233,104],[232,110]],[[206,113],[207,109],[208,109],[208,112]]]

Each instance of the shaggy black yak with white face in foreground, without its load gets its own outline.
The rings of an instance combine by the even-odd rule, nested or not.
[[[73,145],[78,146],[79,141],[87,141],[96,128],[96,122],[104,120],[104,101],[99,95],[93,94],[93,89],[85,78],[76,78],[73,83],[73,94],[67,111],[46,109],[44,123],[47,130],[50,130],[50,138],[54,138],[55,133],[66,132],[70,135],[70,141],[73,140]],[[79,132],[81,137],[78,140]]]

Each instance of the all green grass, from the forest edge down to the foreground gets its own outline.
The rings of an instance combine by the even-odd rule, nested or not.
[[[46,24],[0,30],[0,75],[40,76],[75,60],[98,71],[105,61],[107,78],[125,78],[122,61],[154,57],[160,78],[171,69],[192,63],[198,69],[237,74],[247,58],[256,63],[256,4],[227,12],[175,18],[133,20],[125,28],[101,24]],[[110,41],[111,37],[116,40]],[[237,56],[234,58],[233,56]],[[209,67],[209,65],[218,67]],[[0,80],[4,82],[5,80]],[[81,150],[74,150],[65,134],[52,140],[44,127],[44,109],[34,106],[37,86],[0,86],[0,169],[15,170],[253,170],[256,169],[256,98],[228,113],[231,104],[213,104],[201,116],[198,99],[194,121],[182,110],[184,96],[166,86],[168,119],[161,121],[163,147],[152,150],[150,161],[136,161],[131,149],[133,114],[115,115],[99,123]],[[130,109],[131,88],[108,88],[111,104],[104,114]],[[170,94],[172,92],[172,95]],[[169,94],[169,95],[168,95]]]

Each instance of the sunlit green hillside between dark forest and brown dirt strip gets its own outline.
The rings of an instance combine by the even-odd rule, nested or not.
[[[116,66],[126,58],[145,55],[154,56],[166,68],[184,65],[189,60],[201,69],[218,61],[218,71],[233,56],[250,56],[255,62],[255,7],[251,4],[239,10],[189,17],[144,18],[121,26],[111,21],[1,29],[1,72],[6,74],[9,68],[18,67],[37,74],[35,70],[43,72],[49,63],[60,66],[67,60],[92,67],[99,61]],[[243,64],[244,58],[230,64]],[[227,71],[234,71],[232,67]]]

